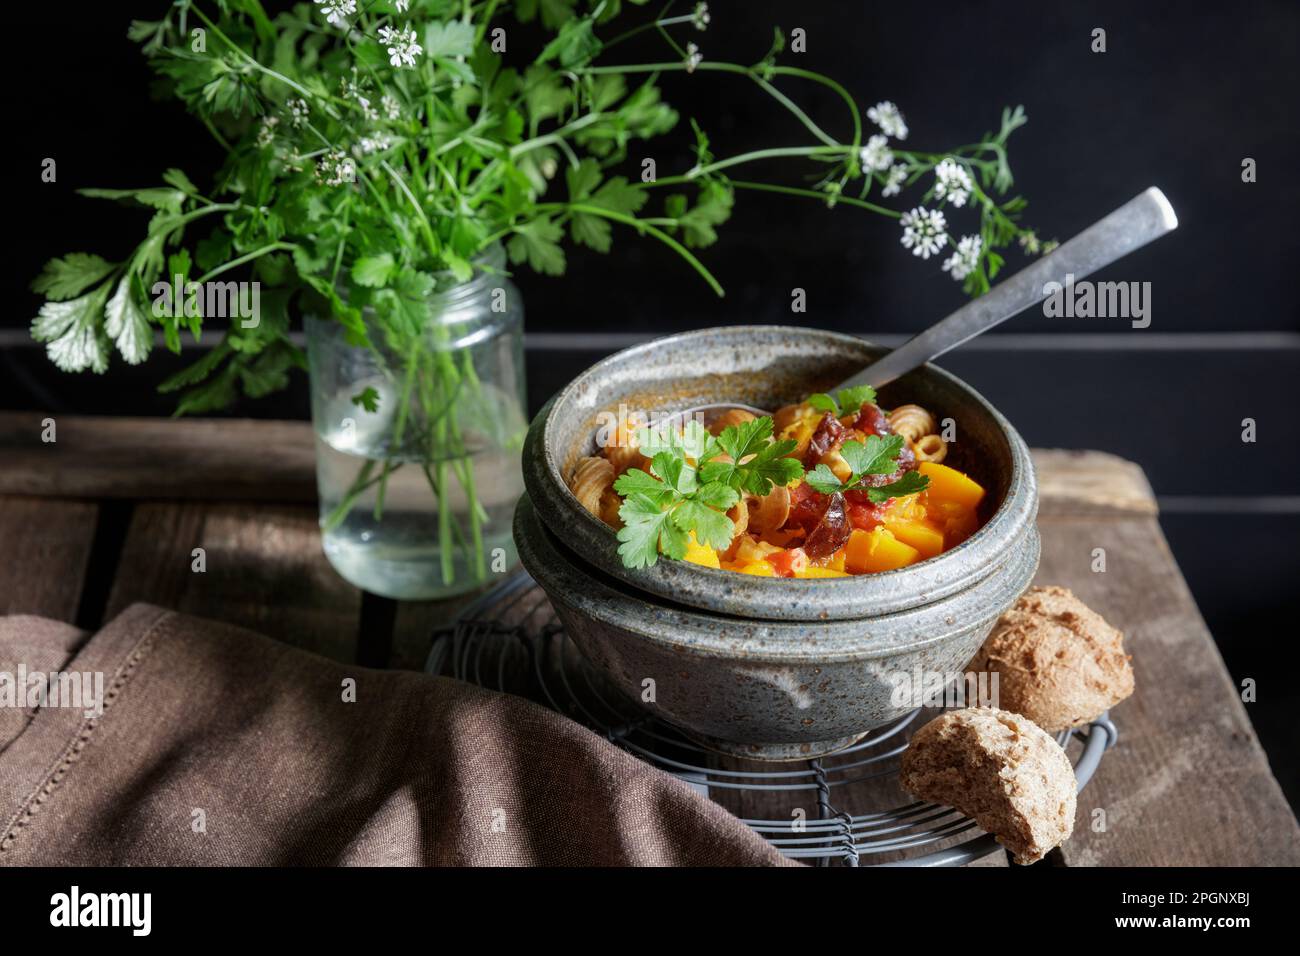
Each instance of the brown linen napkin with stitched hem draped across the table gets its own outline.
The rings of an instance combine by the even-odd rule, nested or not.
[[[0,708],[0,864],[786,862],[685,783],[519,697],[150,605],[84,637],[0,618],[0,671],[101,672],[105,700],[100,717]]]

